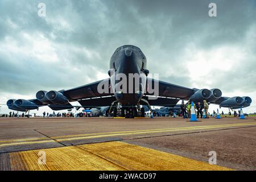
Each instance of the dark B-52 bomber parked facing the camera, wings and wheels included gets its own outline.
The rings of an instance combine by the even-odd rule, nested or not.
[[[27,111],[49,106],[52,110],[72,109],[78,101],[84,108],[110,106],[113,117],[144,117],[144,107],[174,107],[187,100],[238,109],[251,104],[250,97],[222,97],[220,89],[191,89],[150,77],[147,59],[140,48],[126,45],[115,50],[110,59],[109,78],[68,90],[36,93],[36,99],[11,99],[9,109]]]

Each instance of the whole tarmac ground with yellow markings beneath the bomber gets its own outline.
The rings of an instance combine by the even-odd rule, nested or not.
[[[0,170],[256,169],[255,117],[187,120],[0,118]],[[41,150],[49,166],[38,166]],[[210,151],[217,165],[208,164]],[[97,159],[85,162],[90,155]]]

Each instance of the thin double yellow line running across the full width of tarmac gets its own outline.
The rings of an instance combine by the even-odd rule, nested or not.
[[[183,131],[183,130],[199,130],[199,129],[215,129],[220,127],[234,127],[234,126],[249,126],[256,125],[256,122],[251,123],[237,123],[237,124],[225,124],[225,125],[210,125],[210,126],[193,126],[193,127],[177,127],[171,129],[151,129],[151,130],[134,130],[134,131],[114,131],[107,133],[94,133],[94,134],[81,134],[79,135],[66,135],[61,137],[52,137],[53,139],[61,142],[68,140],[80,140],[80,139],[92,139],[92,138],[102,138],[102,137],[115,137],[115,136],[123,136],[123,135],[137,135],[137,134],[149,134],[149,133],[164,133],[169,131]],[[68,138],[71,137],[71,138]],[[36,138],[34,138],[36,140]],[[14,141],[13,143],[6,143],[7,140],[0,141],[0,147],[3,146],[14,146],[19,144],[34,144],[34,143],[47,143],[47,142],[56,142],[55,140],[40,140],[40,141],[30,141],[34,139],[18,139],[18,140],[9,140]],[[43,138],[38,138],[43,139]],[[24,142],[22,142],[24,141]],[[27,141],[27,142],[26,142]]]

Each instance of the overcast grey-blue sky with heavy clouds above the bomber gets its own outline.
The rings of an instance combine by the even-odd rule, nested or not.
[[[45,17],[38,16],[41,2]],[[217,17],[208,15],[210,2]],[[255,2],[1,0],[0,104],[106,78],[115,49],[133,44],[160,80],[250,96],[245,111],[254,112]]]

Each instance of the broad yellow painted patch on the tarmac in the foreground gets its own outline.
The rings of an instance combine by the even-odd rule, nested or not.
[[[39,151],[46,154],[46,164],[39,164]],[[230,168],[210,165],[183,156],[123,142],[83,144],[13,152],[9,154],[12,170],[208,170]],[[208,160],[208,159],[206,159]]]

